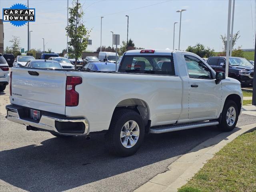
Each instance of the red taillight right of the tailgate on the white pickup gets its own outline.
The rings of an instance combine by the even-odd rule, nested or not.
[[[79,94],[76,92],[75,87],[82,83],[81,77],[67,77],[66,80],[66,106],[78,106]]]

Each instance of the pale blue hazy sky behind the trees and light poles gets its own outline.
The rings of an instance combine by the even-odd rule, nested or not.
[[[129,38],[135,46],[143,48],[172,48],[173,23],[179,22],[182,12],[180,48],[200,42],[205,46],[222,50],[221,34],[227,33],[228,0],[80,0],[84,7],[84,21],[91,29],[92,46],[95,51],[100,46],[100,16],[102,19],[102,45],[112,46],[112,33],[120,34],[126,40],[127,17],[129,15]],[[27,0],[0,0],[2,8]],[[71,4],[71,0],[69,0]],[[151,6],[152,5],[152,6]],[[66,7],[67,0],[29,0],[30,8],[36,9],[36,22],[30,22],[31,48],[61,52],[66,48]],[[252,8],[251,8],[252,6]],[[144,7],[144,8],[142,8]],[[252,11],[251,11],[252,10]],[[240,30],[237,46],[254,48],[255,0],[236,0],[234,32]],[[179,24],[175,29],[175,48],[178,48]],[[10,46],[12,36],[20,36],[21,47],[27,49],[27,26],[15,27],[4,22],[4,47]]]

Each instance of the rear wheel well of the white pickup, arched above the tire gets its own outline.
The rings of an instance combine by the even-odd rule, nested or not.
[[[122,100],[117,104],[114,112],[116,110],[120,110],[120,109],[124,109],[124,108],[128,108],[128,109],[138,112],[138,114],[140,114],[140,116],[143,119],[144,125],[146,126],[148,124],[149,108],[145,101],[143,101],[141,99],[135,99],[135,98]]]

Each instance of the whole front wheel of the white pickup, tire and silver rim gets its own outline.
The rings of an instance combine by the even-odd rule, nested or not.
[[[222,110],[222,118],[218,128],[222,131],[232,131],[238,120],[238,108],[234,101],[227,100]]]

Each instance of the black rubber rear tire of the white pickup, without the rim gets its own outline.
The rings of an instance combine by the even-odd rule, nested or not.
[[[122,145],[120,139],[120,133],[124,124],[130,120],[135,121],[139,127],[139,137],[136,144],[130,148],[126,148]],[[106,147],[111,154],[117,156],[130,156],[137,152],[140,148],[145,133],[145,126],[140,114],[133,110],[123,109],[114,112],[112,120],[110,122],[108,133],[106,134]],[[132,136],[131,136],[132,137]]]

